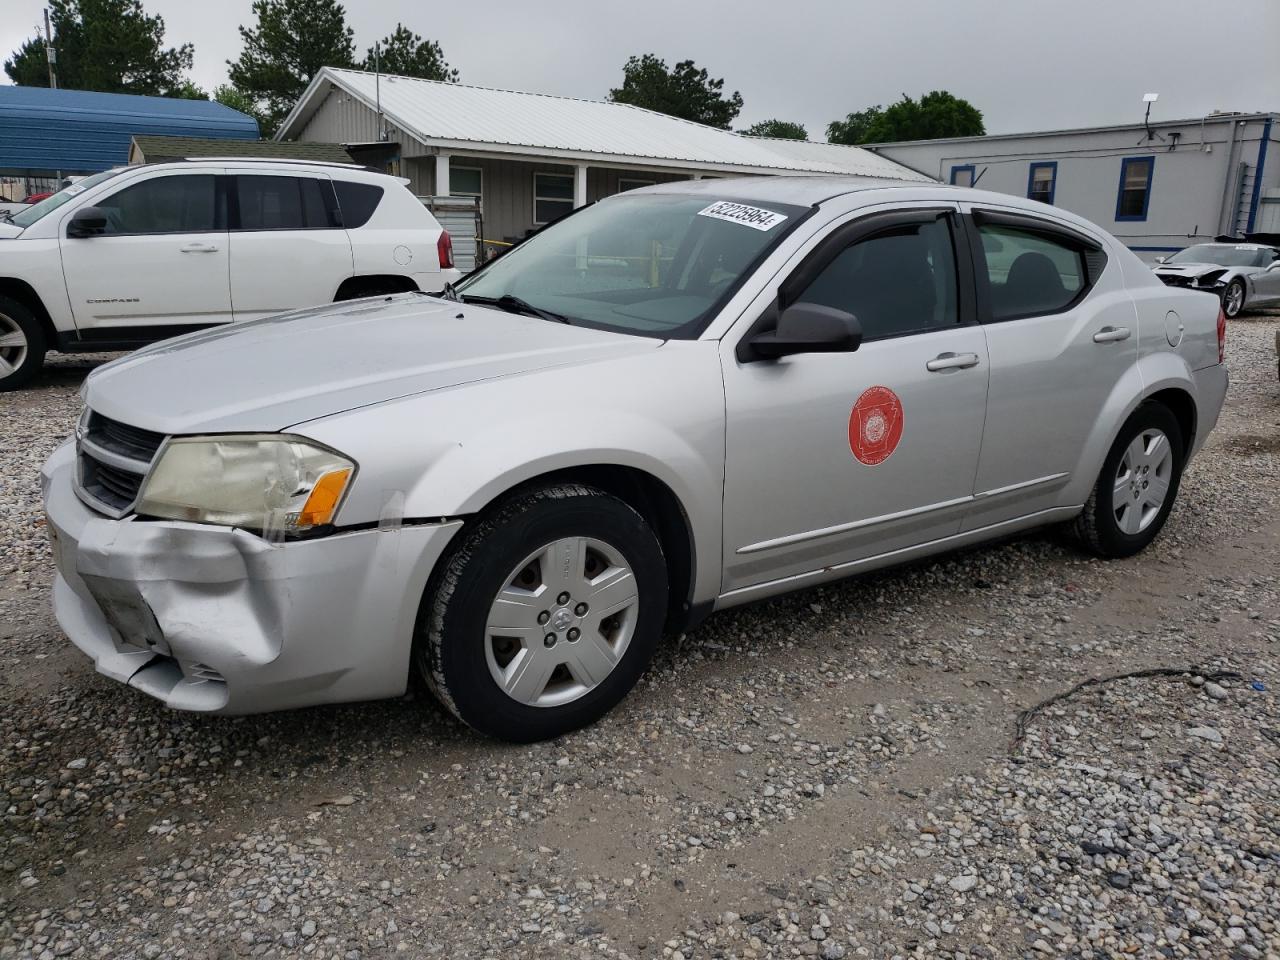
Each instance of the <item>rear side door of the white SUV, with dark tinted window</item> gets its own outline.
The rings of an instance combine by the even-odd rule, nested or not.
[[[229,174],[236,319],[333,302],[352,262],[330,179],[293,172]]]

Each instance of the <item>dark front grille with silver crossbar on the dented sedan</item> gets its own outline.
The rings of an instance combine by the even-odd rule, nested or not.
[[[91,412],[77,444],[81,499],[108,516],[128,513],[164,439],[164,434]]]

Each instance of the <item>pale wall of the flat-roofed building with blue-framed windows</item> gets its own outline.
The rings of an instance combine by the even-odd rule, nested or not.
[[[1234,147],[1233,125],[1238,128]],[[1020,197],[1027,196],[1030,164],[1056,161],[1055,205],[1093,220],[1147,260],[1224,232],[1243,230],[1253,198],[1263,120],[1208,120],[1203,141],[1199,123],[1153,123],[1152,129],[1165,140],[1148,142],[1142,129],[1087,131],[924,141],[877,151],[943,183],[951,182],[954,166],[973,165],[980,177],[979,189]],[[1171,133],[1180,134],[1176,146]],[[1280,186],[1277,138],[1280,124],[1271,131],[1263,188]],[[1116,219],[1120,169],[1130,156],[1155,157],[1146,220]]]

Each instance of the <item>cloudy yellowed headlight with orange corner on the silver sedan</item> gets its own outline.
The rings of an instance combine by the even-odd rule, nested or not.
[[[355,472],[353,461],[300,436],[178,438],[147,475],[137,512],[298,536],[333,522]]]

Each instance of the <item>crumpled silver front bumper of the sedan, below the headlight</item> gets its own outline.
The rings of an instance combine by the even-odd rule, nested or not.
[[[169,707],[259,713],[397,696],[419,604],[461,521],[269,543],[232,527],[109,520],[76,452],[41,471],[58,622],[105,676]]]

